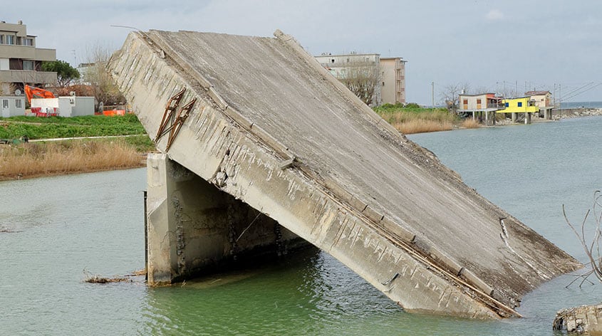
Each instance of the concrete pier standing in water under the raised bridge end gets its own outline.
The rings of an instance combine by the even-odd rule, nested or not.
[[[147,159],[147,274],[166,285],[306,241],[168,158]]]

